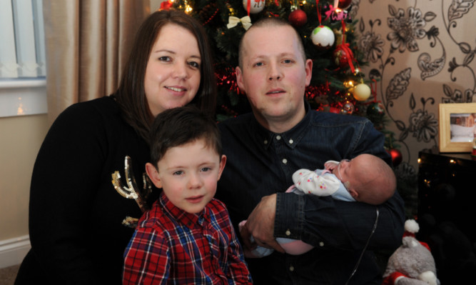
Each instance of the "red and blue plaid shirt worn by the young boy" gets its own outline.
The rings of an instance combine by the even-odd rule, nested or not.
[[[200,214],[162,193],[138,222],[124,253],[123,284],[252,284],[225,205]]]

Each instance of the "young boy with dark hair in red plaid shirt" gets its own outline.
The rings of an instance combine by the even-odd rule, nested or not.
[[[252,284],[228,211],[213,199],[226,164],[216,121],[168,109],[149,143],[146,172],[163,192],[126,248],[123,284]]]

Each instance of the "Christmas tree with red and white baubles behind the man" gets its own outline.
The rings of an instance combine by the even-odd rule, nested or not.
[[[311,108],[367,116],[383,129],[383,107],[370,96],[372,84],[359,68],[365,62],[357,49],[351,0],[169,0],[162,5],[171,7],[201,21],[211,39],[218,121],[250,111],[235,77],[241,37],[261,17],[280,17],[295,27],[306,56],[313,60],[313,79],[305,94]]]

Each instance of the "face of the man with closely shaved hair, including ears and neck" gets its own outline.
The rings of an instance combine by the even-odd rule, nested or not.
[[[260,26],[243,39],[237,83],[258,122],[270,131],[287,131],[305,115],[303,96],[313,63],[304,61],[298,40],[291,26]]]

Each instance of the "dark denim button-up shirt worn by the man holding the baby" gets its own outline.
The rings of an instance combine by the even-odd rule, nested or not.
[[[310,284],[344,283],[375,221],[375,206],[283,193],[293,184],[294,171],[322,169],[330,159],[340,161],[369,153],[391,163],[383,149],[383,134],[368,119],[313,111],[308,104],[305,108],[304,119],[282,134],[263,128],[253,114],[218,124],[228,159],[216,197],[225,202],[236,229],[261,197],[277,193],[274,236],[315,246],[301,256],[275,252],[260,261],[248,259],[255,281],[260,280],[261,271],[270,270],[265,277],[275,276],[275,282],[282,284],[306,284],[306,280]],[[369,249],[392,251],[403,234],[402,199],[396,193],[378,208],[378,229]],[[378,278],[378,270],[366,254],[350,284],[370,283]]]

